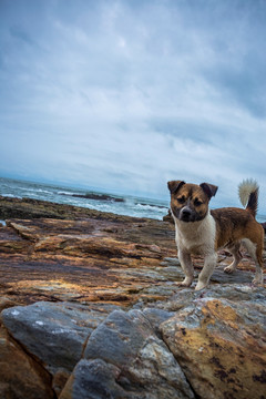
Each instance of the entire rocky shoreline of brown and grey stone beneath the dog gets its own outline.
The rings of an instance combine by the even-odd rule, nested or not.
[[[181,288],[174,226],[0,197],[2,399],[266,398],[265,285],[244,254]],[[194,258],[196,274],[203,260]]]

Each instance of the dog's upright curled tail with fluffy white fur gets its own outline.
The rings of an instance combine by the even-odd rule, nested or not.
[[[246,178],[238,185],[238,195],[243,206],[255,217],[258,207],[258,184],[253,178]]]

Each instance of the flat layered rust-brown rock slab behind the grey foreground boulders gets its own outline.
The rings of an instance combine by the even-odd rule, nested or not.
[[[219,255],[213,283],[249,283],[254,265],[244,257],[226,275]],[[195,274],[203,266],[194,258]],[[241,270],[242,269],[242,270]],[[184,275],[170,223],[111,217],[11,219],[0,228],[0,293],[21,304],[40,300],[112,303],[167,299]],[[194,286],[193,286],[194,287]]]

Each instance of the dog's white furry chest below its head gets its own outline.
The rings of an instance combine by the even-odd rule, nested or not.
[[[216,225],[208,214],[201,222],[182,222],[175,219],[175,239],[177,247],[192,254],[205,254],[215,247]]]

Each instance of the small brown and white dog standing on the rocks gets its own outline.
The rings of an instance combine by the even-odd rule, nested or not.
[[[209,211],[209,200],[218,187],[208,183],[196,185],[172,181],[168,182],[168,190],[177,253],[185,274],[181,285],[188,287],[193,282],[191,255],[202,255],[205,258],[196,290],[207,286],[216,266],[216,253],[221,248],[226,247],[233,254],[233,263],[224,269],[225,273],[233,273],[242,258],[241,244],[244,244],[256,264],[253,283],[262,284],[264,229],[255,219],[258,202],[257,183],[246,180],[238,187],[245,209],[225,207]]]

